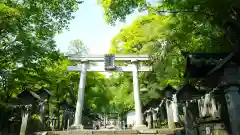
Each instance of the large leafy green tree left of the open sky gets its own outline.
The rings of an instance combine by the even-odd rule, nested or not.
[[[23,90],[51,86],[45,69],[61,59],[54,35],[67,28],[77,7],[75,0],[0,2],[1,103],[11,102]],[[0,110],[2,129],[13,114],[2,105]]]

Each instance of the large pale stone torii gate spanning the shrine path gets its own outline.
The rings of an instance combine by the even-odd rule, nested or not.
[[[138,71],[147,72],[151,71],[150,66],[141,66],[139,62],[149,61],[149,55],[88,55],[80,56],[76,54],[67,54],[69,60],[80,61],[81,65],[68,66],[68,71],[81,72],[79,88],[78,88],[78,100],[76,104],[74,124],[71,129],[83,129],[82,125],[82,110],[84,102],[84,89],[86,84],[87,72],[132,72],[133,74],[133,88],[134,88],[134,103],[135,103],[135,117],[136,123],[134,128],[146,127],[143,124],[142,107],[140,101],[140,90],[138,82]],[[115,66],[115,61],[131,62],[132,64],[127,66]],[[96,66],[89,64],[90,62],[104,62],[105,66]]]

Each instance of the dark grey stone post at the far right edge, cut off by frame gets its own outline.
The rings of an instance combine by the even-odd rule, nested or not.
[[[229,120],[231,123],[232,134],[240,135],[240,67],[236,63],[229,63],[224,70],[222,77],[223,85],[225,85],[225,98],[228,107]]]

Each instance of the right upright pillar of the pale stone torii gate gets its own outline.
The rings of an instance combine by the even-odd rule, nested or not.
[[[135,103],[135,125],[134,129],[141,129],[143,127],[143,114],[142,114],[142,106],[140,101],[140,90],[139,90],[139,82],[138,82],[138,61],[132,61],[133,64],[133,92],[134,92],[134,103]]]

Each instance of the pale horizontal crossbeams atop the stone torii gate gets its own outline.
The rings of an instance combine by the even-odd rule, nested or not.
[[[106,71],[117,71],[117,72],[132,72],[134,71],[134,64],[138,65],[138,61],[149,61],[151,59],[150,55],[113,55],[113,54],[105,54],[105,55],[77,55],[77,54],[67,54],[65,55],[69,60],[81,61],[82,64],[86,64],[88,62],[104,62],[105,67],[103,66],[94,66],[94,65],[83,65],[78,66],[68,66],[68,71],[83,71],[87,70],[90,72],[106,72]],[[133,65],[128,66],[116,66],[114,61],[130,61]],[[138,65],[138,71],[147,72],[151,71],[151,67]]]

